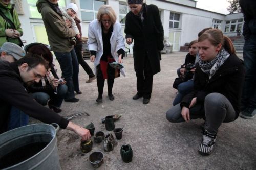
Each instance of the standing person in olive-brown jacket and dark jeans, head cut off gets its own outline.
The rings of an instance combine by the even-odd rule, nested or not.
[[[66,102],[78,102],[75,92],[79,93],[79,65],[75,50],[69,38],[76,35],[72,28],[67,27],[58,6],[58,0],[38,0],[36,2],[38,12],[42,15],[42,21],[46,28],[48,41],[59,62],[62,78],[67,81],[68,92],[64,98]]]

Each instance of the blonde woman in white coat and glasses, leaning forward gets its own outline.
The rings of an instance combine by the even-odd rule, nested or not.
[[[111,6],[100,7],[97,19],[92,21],[88,30],[88,47],[91,52],[91,62],[94,62],[97,74],[98,98],[102,102],[105,79],[108,83],[108,96],[111,101],[115,98],[112,94],[117,70],[110,66],[112,62],[122,63],[124,56],[124,37],[120,23],[116,22],[116,14]],[[119,71],[119,70],[118,70]],[[122,75],[124,71],[121,69]]]

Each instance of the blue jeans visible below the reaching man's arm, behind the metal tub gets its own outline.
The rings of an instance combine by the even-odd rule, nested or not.
[[[8,120],[8,131],[21,126],[28,125],[28,123],[29,116],[25,114],[23,111],[19,110],[18,108],[12,106]]]

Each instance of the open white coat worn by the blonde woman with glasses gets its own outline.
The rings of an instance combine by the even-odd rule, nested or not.
[[[99,65],[100,58],[103,55],[103,40],[102,40],[102,28],[101,23],[98,20],[93,20],[88,29],[88,48],[89,50],[96,51],[94,66],[95,74],[97,74],[97,65]],[[111,55],[114,60],[118,62],[117,51],[123,49],[125,51],[124,37],[122,34],[122,26],[116,22],[113,24],[113,32],[110,37]],[[120,70],[121,74],[125,76],[124,69]]]

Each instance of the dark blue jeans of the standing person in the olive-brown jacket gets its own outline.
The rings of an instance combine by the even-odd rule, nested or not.
[[[78,73],[79,65],[74,48],[70,52],[61,53],[54,52],[62,71],[62,78],[67,81],[68,91],[65,99],[72,99],[75,97],[74,91],[79,91]]]

